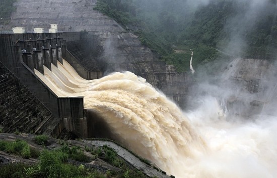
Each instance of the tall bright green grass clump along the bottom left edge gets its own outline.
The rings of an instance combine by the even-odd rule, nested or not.
[[[39,163],[28,165],[23,163],[5,164],[0,167],[0,177],[107,177],[96,169],[86,168],[80,164],[67,163],[67,155],[59,150],[44,150]]]

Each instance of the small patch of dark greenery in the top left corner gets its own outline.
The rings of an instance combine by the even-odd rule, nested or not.
[[[17,0],[1,0],[0,1],[0,24],[9,23],[12,12],[16,10],[14,3]]]

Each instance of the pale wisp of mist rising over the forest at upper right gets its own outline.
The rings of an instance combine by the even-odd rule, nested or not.
[[[219,47],[235,56],[241,56],[248,47],[245,35],[255,30],[257,23],[274,14],[276,5],[272,1],[260,0],[243,0],[237,1],[236,4],[237,13],[227,20],[224,28],[230,39]]]

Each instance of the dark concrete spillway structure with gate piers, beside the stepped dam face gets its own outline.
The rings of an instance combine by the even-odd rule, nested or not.
[[[57,97],[34,75],[34,70],[44,74],[43,65],[51,70],[51,63],[55,66],[57,61],[62,63],[62,42],[61,33],[0,34],[0,59],[3,66],[38,98],[53,117],[60,119],[59,124],[52,125],[55,128],[53,136],[67,129],[79,137],[87,137],[83,97]]]

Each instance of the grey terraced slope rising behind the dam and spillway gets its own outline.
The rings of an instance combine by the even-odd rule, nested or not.
[[[188,86],[194,83],[190,75],[177,73],[173,66],[166,65],[155,52],[142,45],[136,35],[93,10],[96,3],[97,0],[18,0],[10,24],[0,30],[24,27],[32,32],[34,28],[47,30],[50,24],[58,24],[58,31],[62,31],[66,40],[63,45],[69,51],[67,55],[63,51],[63,57],[83,78],[90,80],[115,71],[131,71],[185,106],[182,103],[188,97]],[[81,37],[77,33],[73,37],[73,32]],[[84,32],[87,35],[82,38]]]

